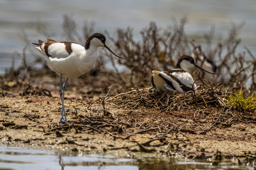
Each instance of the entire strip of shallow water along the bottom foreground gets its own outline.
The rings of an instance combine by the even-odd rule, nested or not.
[[[37,150],[24,147],[0,146],[0,169],[251,169],[253,165],[238,165],[231,161],[214,165],[214,160],[189,160],[185,158],[137,159],[118,155],[80,154],[52,150]]]

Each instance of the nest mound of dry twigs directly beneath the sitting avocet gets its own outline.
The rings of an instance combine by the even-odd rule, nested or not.
[[[170,94],[167,91],[163,93],[148,92],[148,88],[143,88],[118,94],[106,101],[123,109],[155,108],[165,112],[177,111],[182,106],[187,105],[224,106],[225,103],[222,99],[224,92],[221,90],[221,83],[213,86],[208,80],[202,82],[202,90],[189,91],[183,94]]]

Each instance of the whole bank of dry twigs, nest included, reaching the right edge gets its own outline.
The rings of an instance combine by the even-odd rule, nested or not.
[[[148,88],[136,89],[110,97],[106,100],[106,105],[112,105],[124,111],[137,109],[160,111],[199,122],[211,117],[217,120],[218,124],[225,126],[237,121],[256,122],[256,114],[251,113],[255,112],[255,97],[253,99],[249,97],[250,100],[246,102],[250,109],[243,109],[241,112],[241,107],[237,109],[227,100],[229,97],[226,97],[226,92],[222,90],[222,84],[213,86],[208,80],[204,80],[204,84],[202,90],[182,94],[148,92]],[[218,120],[220,117],[221,120]]]

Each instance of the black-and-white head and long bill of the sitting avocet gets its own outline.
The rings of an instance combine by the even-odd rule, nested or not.
[[[207,70],[204,70],[203,68],[196,65],[195,60],[191,56],[181,56],[179,60],[177,61],[176,68],[177,69],[183,69],[185,71],[189,71],[189,69],[197,67],[207,73],[210,73]],[[210,73],[210,74],[217,74],[217,73]]]

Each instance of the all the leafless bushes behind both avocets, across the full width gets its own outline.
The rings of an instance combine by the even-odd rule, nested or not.
[[[80,76],[80,80],[84,84],[88,76],[96,76],[98,74],[105,74],[110,79],[118,79],[115,81],[122,89],[118,92],[125,92],[129,88],[145,88],[150,86],[150,76],[152,70],[168,70],[176,65],[177,58],[183,54],[190,55],[193,49],[200,44],[196,44],[195,40],[189,41],[184,32],[186,18],[168,28],[158,28],[154,22],[151,22],[148,27],[141,31],[141,40],[135,41],[133,39],[133,29],[118,29],[116,37],[110,37],[108,32],[105,32],[107,39],[110,39],[114,47],[113,50],[119,56],[125,57],[126,60],[118,59],[118,64],[126,68],[125,73],[119,73],[117,63],[108,54],[100,53],[96,65],[89,72]],[[242,23],[238,26],[233,25],[230,29],[228,37],[220,42],[212,42],[214,37],[214,30],[204,35],[207,47],[201,50],[205,56],[212,59],[217,70],[221,75],[218,77],[218,82],[221,82],[229,92],[237,92],[237,90],[245,91],[245,95],[253,94],[256,90],[256,58],[250,53],[250,50],[244,47],[246,52],[237,53],[236,48],[241,40],[237,37],[237,32],[242,27]],[[64,15],[63,22],[63,40],[79,42],[85,44],[88,36],[94,32],[94,23],[85,23],[83,27],[84,35],[79,35],[76,31],[75,20],[71,16]],[[51,38],[54,33],[47,33],[43,25],[38,26],[38,32],[46,39]],[[22,32],[22,39],[26,42],[23,52],[14,52],[14,55],[23,59],[23,65],[18,69],[11,67],[6,71],[5,75],[1,76],[1,88],[7,90],[6,82],[14,82],[16,86],[22,86],[26,81],[30,81],[31,76],[35,76],[35,65],[42,65],[47,68],[46,62],[40,54],[32,50],[34,46],[28,40],[26,32]],[[216,44],[215,46],[213,44]],[[213,46],[213,47],[212,47]],[[105,51],[106,52],[106,51]],[[35,58],[34,62],[27,63],[26,57],[32,55]],[[110,57],[109,57],[110,56]],[[251,59],[245,59],[251,58]],[[115,71],[108,71],[105,68],[105,63],[111,62]],[[47,74],[55,76],[55,73],[48,71]],[[124,74],[124,75],[123,75]],[[20,80],[22,79],[22,80]],[[97,79],[97,77],[95,78]],[[250,82],[249,87],[246,87],[246,82]],[[110,81],[109,81],[110,82]],[[112,82],[107,84],[109,87]],[[119,88],[120,88],[119,87]],[[105,92],[108,88],[105,89]]]

